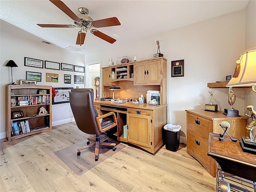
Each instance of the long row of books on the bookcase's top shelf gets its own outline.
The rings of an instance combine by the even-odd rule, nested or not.
[[[12,96],[16,100],[16,106],[22,105],[36,105],[36,104],[50,104],[49,95],[40,96]]]

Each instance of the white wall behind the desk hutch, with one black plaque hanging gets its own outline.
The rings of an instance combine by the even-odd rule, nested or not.
[[[239,25],[239,27],[238,27]],[[161,27],[161,26],[156,26]],[[245,10],[219,16],[203,22],[157,34],[123,46],[86,55],[86,62],[101,60],[102,67],[108,66],[108,58],[117,63],[120,56],[137,57],[137,61],[152,58],[160,51],[168,59],[167,97],[168,122],[180,124],[186,133],[186,109],[204,109],[208,103],[208,82],[226,80],[234,73],[236,60],[244,50]],[[172,60],[184,59],[184,77],[170,77]],[[101,82],[102,83],[102,82]],[[237,95],[234,108],[244,114],[244,89],[233,89]],[[227,88],[211,89],[219,110],[228,108]]]

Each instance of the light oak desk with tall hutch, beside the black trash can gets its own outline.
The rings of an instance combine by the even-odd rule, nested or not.
[[[111,86],[120,87],[115,98],[138,100],[142,94],[146,102],[148,90],[160,91],[160,105],[114,104],[110,101],[94,101],[98,114],[115,112],[119,120],[117,139],[155,153],[163,144],[162,127],[167,123],[166,64],[163,57],[138,62],[118,64],[102,68],[102,97],[112,97]]]

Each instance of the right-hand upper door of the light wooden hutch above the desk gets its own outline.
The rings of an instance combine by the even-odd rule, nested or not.
[[[147,83],[160,83],[160,62],[149,62],[146,66]]]

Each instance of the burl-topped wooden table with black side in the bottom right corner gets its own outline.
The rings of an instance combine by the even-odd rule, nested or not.
[[[237,142],[228,137],[220,142],[218,138],[218,134],[209,134],[208,156],[218,162],[222,171],[254,182],[252,185],[256,191],[256,155],[242,151],[240,138]]]

